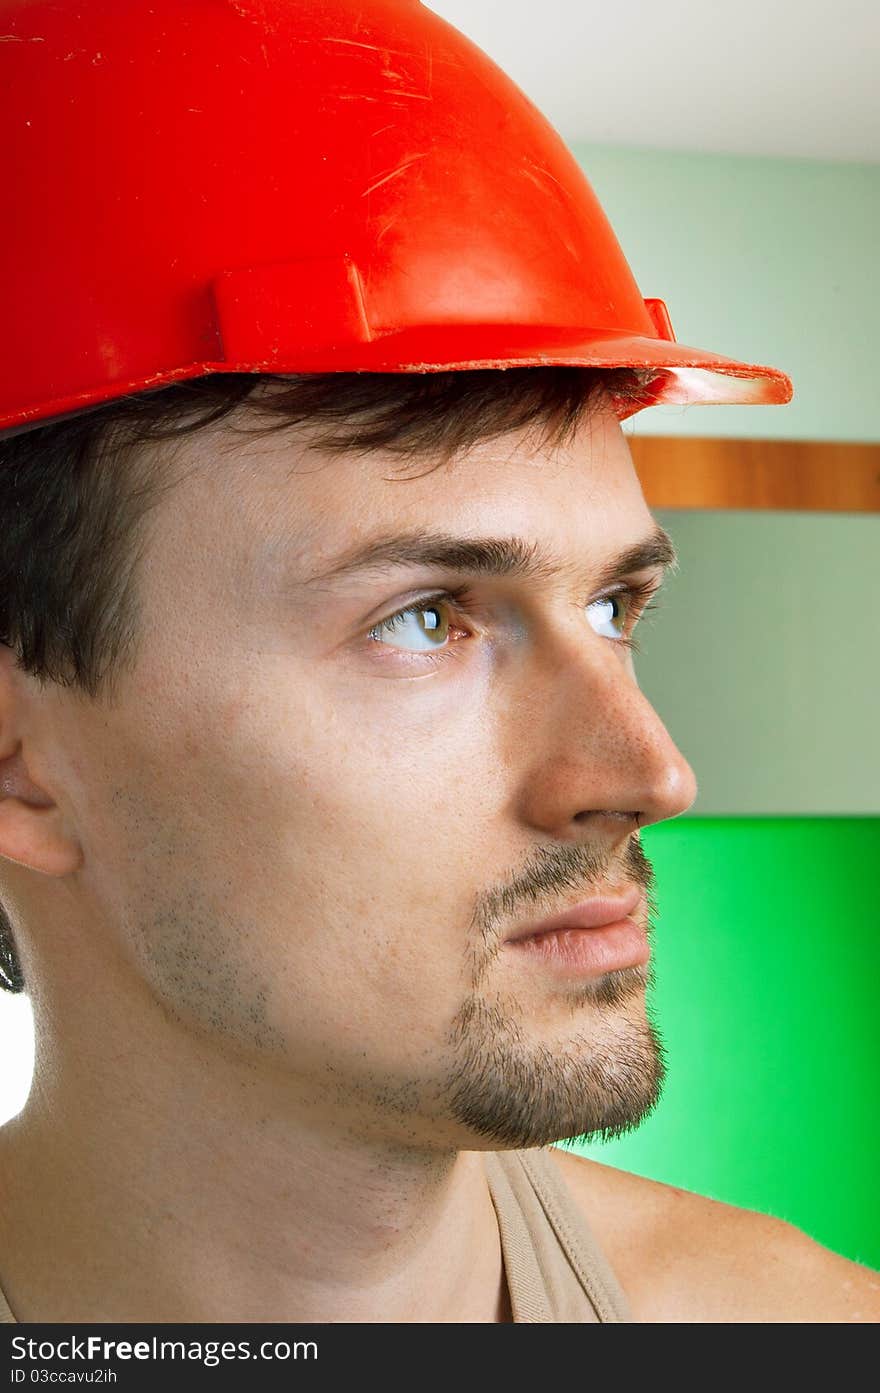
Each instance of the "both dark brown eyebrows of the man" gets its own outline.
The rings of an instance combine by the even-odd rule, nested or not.
[[[647,536],[604,561],[595,584],[602,588],[632,571],[656,567],[667,570],[677,564],[673,539],[657,524]],[[519,536],[466,538],[448,532],[388,532],[345,552],[329,570],[308,577],[304,584],[326,585],[352,575],[383,573],[404,566],[434,566],[469,575],[537,582],[554,581],[572,573],[582,575],[586,570],[586,564],[560,561],[537,542],[525,542]]]

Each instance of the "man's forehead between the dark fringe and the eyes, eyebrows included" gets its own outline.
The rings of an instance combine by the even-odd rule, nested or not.
[[[235,471],[237,485],[221,492],[237,514],[252,574],[274,575],[285,592],[341,589],[405,568],[533,584],[579,582],[589,574],[604,584],[675,564],[671,539],[645,506],[620,426],[607,425],[615,439],[600,428],[599,449],[593,422],[564,451],[486,440],[448,472],[412,476],[391,472],[400,471],[393,456],[322,454],[299,432],[292,439],[284,432],[287,440],[258,437],[239,457],[245,468]],[[522,468],[565,457],[574,469]],[[595,469],[624,479],[622,492],[596,488]]]

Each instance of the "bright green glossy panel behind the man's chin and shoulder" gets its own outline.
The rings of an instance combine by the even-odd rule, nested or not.
[[[880,1269],[880,819],[678,819],[643,846],[667,1084],[579,1149]]]

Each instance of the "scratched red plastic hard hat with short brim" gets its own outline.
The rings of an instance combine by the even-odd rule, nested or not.
[[[0,0],[0,429],[210,372],[792,396],[675,343],[553,127],[416,0]]]

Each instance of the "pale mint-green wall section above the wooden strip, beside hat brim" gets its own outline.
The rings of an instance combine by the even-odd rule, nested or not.
[[[572,149],[678,341],[795,386],[785,407],[653,407],[632,429],[880,440],[880,164]]]

